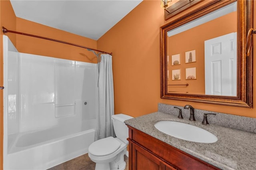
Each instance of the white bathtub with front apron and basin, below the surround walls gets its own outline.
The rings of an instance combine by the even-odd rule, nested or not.
[[[56,134],[54,130],[42,133],[45,132],[49,132],[46,136]],[[55,139],[46,137],[47,141],[38,135],[40,132],[17,137],[10,148],[12,153],[5,157],[5,170],[44,170],[76,158],[88,152],[89,145],[94,142],[95,130],[89,129]]]

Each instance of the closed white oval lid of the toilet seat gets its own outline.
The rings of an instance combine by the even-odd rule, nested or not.
[[[104,156],[115,152],[120,145],[118,140],[110,136],[93,142],[88,151],[95,156]]]

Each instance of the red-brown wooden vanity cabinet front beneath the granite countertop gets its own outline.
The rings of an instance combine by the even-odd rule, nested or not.
[[[218,170],[136,128],[129,128],[129,170]]]

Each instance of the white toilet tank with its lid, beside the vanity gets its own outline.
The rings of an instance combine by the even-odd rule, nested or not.
[[[132,118],[133,117],[124,115],[122,113],[117,115],[112,115],[113,126],[114,126],[116,137],[122,140],[124,143],[128,143],[127,138],[129,134],[128,127],[125,125],[124,121]]]

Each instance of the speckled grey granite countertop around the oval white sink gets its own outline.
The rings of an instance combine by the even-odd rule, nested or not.
[[[154,124],[158,121],[176,121],[194,125],[215,134],[218,141],[198,143],[175,138],[157,130]],[[187,119],[178,119],[175,115],[162,112],[129,119],[125,123],[218,168],[224,170],[256,169],[255,133],[214,124],[205,126],[200,121],[192,122]]]

